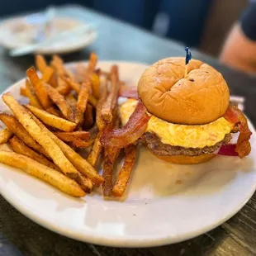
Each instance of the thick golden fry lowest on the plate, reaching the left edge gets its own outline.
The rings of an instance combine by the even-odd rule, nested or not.
[[[60,191],[72,197],[84,197],[85,192],[78,183],[66,177],[64,174],[46,167],[25,155],[11,151],[0,151],[0,163],[20,168],[24,172],[43,180],[45,183],[57,187]]]

